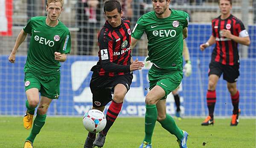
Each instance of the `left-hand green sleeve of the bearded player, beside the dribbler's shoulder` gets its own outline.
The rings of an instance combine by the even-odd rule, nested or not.
[[[145,26],[143,26],[144,23],[144,18],[143,16],[139,18],[137,21],[136,25],[134,26],[133,31],[131,32],[131,37],[140,40],[141,36],[145,32]]]

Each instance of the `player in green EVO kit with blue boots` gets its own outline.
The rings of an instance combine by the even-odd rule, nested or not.
[[[154,11],[141,16],[131,34],[133,48],[146,33],[147,61],[153,63],[148,72],[150,91],[145,98],[145,138],[140,148],[151,148],[156,121],[177,137],[180,148],[187,148],[188,133],[180,130],[175,120],[166,114],[166,96],[179,86],[183,78],[183,39],[187,37],[189,15],[169,9],[170,0],[152,0],[152,4]]]

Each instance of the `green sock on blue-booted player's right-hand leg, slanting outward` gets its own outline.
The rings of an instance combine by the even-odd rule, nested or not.
[[[168,114],[166,114],[166,119],[164,119],[163,121],[160,121],[160,124],[164,129],[169,131],[169,133],[172,133],[173,135],[175,135],[178,140],[183,138],[184,136],[183,131],[177,127],[175,120]]]

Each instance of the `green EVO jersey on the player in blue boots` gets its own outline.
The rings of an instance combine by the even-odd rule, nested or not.
[[[145,32],[148,38],[148,58],[159,68],[176,71],[183,66],[183,34],[188,27],[189,15],[183,11],[171,10],[169,17],[158,18],[154,11],[141,16],[131,36],[137,40]]]

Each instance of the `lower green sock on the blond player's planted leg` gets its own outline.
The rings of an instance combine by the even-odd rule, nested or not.
[[[29,140],[32,143],[34,142],[35,136],[40,132],[41,128],[44,126],[45,120],[46,120],[46,114],[36,115],[33,123],[32,131],[26,140]]]

